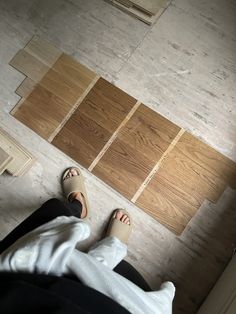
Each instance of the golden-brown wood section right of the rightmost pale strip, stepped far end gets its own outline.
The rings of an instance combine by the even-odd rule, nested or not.
[[[217,202],[235,176],[235,163],[185,133],[136,204],[181,234],[203,201]]]

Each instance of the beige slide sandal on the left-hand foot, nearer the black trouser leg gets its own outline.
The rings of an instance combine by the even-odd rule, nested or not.
[[[66,176],[68,175],[71,169],[76,170],[77,175],[66,178]],[[84,197],[86,209],[87,209],[87,214],[86,214],[86,217],[84,218],[87,218],[88,213],[89,213],[89,202],[88,202],[88,196],[87,196],[87,192],[84,185],[84,178],[79,168],[70,167],[65,170],[65,172],[62,175],[62,187],[63,187],[65,197],[68,201],[72,193],[80,192],[82,194],[82,196]]]

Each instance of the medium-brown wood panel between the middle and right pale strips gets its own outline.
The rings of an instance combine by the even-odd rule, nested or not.
[[[179,130],[141,104],[92,173],[132,199]]]

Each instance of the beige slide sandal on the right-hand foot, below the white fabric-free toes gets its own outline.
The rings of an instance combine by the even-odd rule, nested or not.
[[[123,215],[127,215],[129,217],[130,224],[126,224],[126,223],[120,221],[119,219],[115,218],[116,213],[118,211],[121,211],[123,213]],[[132,230],[132,220],[131,220],[129,213],[125,209],[122,209],[122,208],[116,209],[112,213],[112,217],[110,219],[110,222],[109,222],[109,225],[107,228],[107,236],[108,237],[116,237],[121,242],[127,244],[131,230]]]

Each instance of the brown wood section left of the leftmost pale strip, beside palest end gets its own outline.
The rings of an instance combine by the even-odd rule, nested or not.
[[[32,75],[31,69],[34,68],[35,60],[37,66],[38,59],[24,51],[22,53],[30,62],[27,63],[24,59],[21,63],[22,60],[16,59],[24,69],[30,65],[29,70],[24,70],[25,74],[28,73],[30,76],[23,81],[17,92],[20,96],[27,98],[13,109],[12,114],[48,140],[70,113],[79,97],[86,91],[96,74],[63,54],[36,84],[42,72],[40,71],[40,75]],[[40,64],[42,65],[41,62]]]

